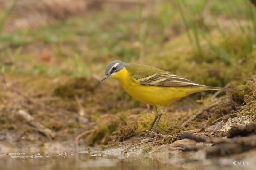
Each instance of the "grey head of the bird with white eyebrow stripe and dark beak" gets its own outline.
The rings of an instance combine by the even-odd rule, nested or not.
[[[105,80],[106,78],[114,76],[118,71],[122,70],[127,63],[124,63],[119,60],[114,60],[108,63],[105,69],[105,76],[102,78],[101,81]]]

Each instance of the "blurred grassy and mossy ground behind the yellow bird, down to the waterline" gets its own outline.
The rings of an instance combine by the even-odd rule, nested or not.
[[[115,80],[100,82],[112,60],[252,96],[255,43],[256,9],[249,0],[0,0],[0,142],[104,147],[143,135],[152,107]],[[246,103],[244,94],[222,92],[217,97],[231,96],[231,103],[181,127],[213,94],[164,107],[159,131],[206,127],[239,106],[240,114],[255,114],[255,98]]]

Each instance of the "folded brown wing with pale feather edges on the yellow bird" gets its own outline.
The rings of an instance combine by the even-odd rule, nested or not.
[[[170,73],[158,73],[137,79],[142,85],[165,87],[206,87]]]

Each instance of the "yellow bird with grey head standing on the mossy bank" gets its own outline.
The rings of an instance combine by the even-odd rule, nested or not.
[[[105,76],[101,81],[107,78],[116,79],[134,99],[154,106],[155,119],[149,128],[149,131],[151,131],[156,123],[153,132],[156,132],[163,114],[161,109],[163,105],[170,104],[190,94],[207,90],[243,92],[243,90],[238,89],[201,85],[152,66],[125,63],[119,60],[108,63],[105,69]],[[147,133],[139,140],[150,137],[152,135],[148,136]]]

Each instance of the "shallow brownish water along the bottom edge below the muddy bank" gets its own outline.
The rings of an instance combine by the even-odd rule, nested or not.
[[[0,154],[0,169],[251,169],[252,166],[233,165],[232,159],[196,160],[180,153],[172,157],[148,154],[115,156],[89,153],[60,154]]]

